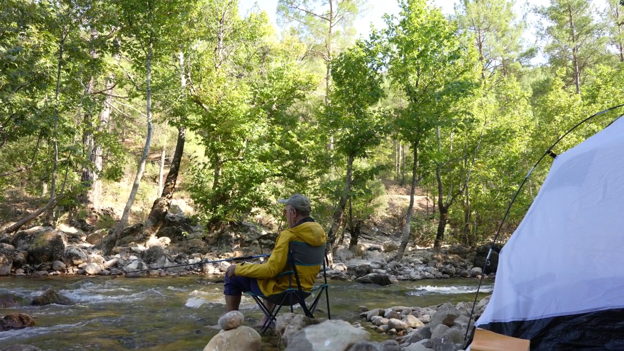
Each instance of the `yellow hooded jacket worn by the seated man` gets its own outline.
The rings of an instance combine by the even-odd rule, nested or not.
[[[266,263],[236,265],[234,274],[258,279],[258,287],[260,287],[262,294],[265,296],[278,294],[288,289],[289,279],[292,279],[292,287],[296,289],[297,283],[294,275],[290,278],[288,275],[275,277],[281,272],[288,270],[288,243],[291,241],[301,241],[311,246],[321,246],[327,241],[327,235],[323,227],[313,220],[286,229],[278,235],[275,248]],[[303,290],[310,291],[312,289],[320,269],[321,265],[297,265],[297,274]]]

